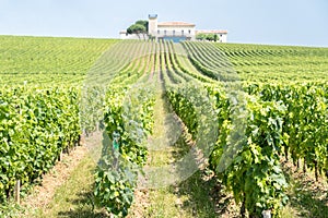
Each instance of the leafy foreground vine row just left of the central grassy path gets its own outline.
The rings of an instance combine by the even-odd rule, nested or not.
[[[132,204],[138,172],[147,162],[148,150],[142,141],[153,129],[153,96],[148,95],[148,89],[141,89],[137,99],[129,98],[133,102],[125,105],[126,95],[127,89],[122,87],[107,92],[104,123],[109,141],[104,143],[113,142],[113,132],[119,133],[119,156],[115,156],[110,145],[104,146],[94,191],[97,204],[118,217],[127,216]],[[143,104],[134,101],[138,99],[143,99]],[[125,114],[126,107],[130,107],[129,114]]]

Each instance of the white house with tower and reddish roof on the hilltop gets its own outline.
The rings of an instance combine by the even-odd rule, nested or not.
[[[219,41],[226,43],[226,31],[196,31],[196,25],[187,22],[159,22],[157,14],[149,15],[148,35],[155,39],[164,40],[196,40],[198,33],[214,33],[219,36]],[[122,31],[119,33],[121,39],[148,39],[142,34],[127,34]]]

